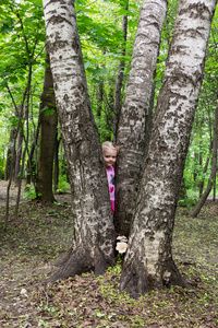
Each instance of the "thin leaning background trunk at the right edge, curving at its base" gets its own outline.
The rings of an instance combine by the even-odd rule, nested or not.
[[[216,107],[215,113],[215,122],[214,122],[214,141],[213,141],[213,162],[211,162],[211,173],[209,177],[209,181],[207,184],[207,188],[205,189],[204,194],[202,195],[201,199],[198,200],[197,204],[191,211],[190,215],[192,218],[196,218],[199,213],[202,207],[204,206],[214,183],[216,183],[216,173],[217,173],[217,137],[218,137],[218,105]]]

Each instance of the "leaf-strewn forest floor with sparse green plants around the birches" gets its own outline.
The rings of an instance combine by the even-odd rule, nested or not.
[[[57,195],[53,204],[25,200],[14,220],[13,187],[3,232],[5,188],[0,183],[0,327],[218,327],[217,201],[197,219],[186,208],[177,212],[173,258],[192,288],[133,300],[119,292],[120,263],[100,278],[89,272],[46,285],[57,270],[52,262],[72,244],[70,194]]]

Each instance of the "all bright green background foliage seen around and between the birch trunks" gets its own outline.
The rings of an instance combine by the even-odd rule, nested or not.
[[[140,17],[141,3],[130,2],[128,11],[125,7],[125,0],[99,0],[97,2],[80,0],[75,2],[88,91],[101,142],[113,138],[113,101],[119,60],[124,60],[123,99]],[[155,101],[162,83],[177,8],[178,1],[169,1],[156,69]],[[123,44],[121,32],[123,14],[129,16],[126,45]],[[0,124],[2,136],[0,162],[3,167],[4,144],[8,144],[10,129],[15,128],[17,124],[14,103],[19,108],[23,102],[31,66],[33,78],[29,98],[32,116],[28,122],[29,144],[34,139],[38,120],[45,70],[45,54],[41,50],[46,39],[41,0],[2,0],[0,32],[0,121],[2,121]],[[206,173],[204,173],[204,165],[209,155],[208,149],[213,139],[213,120],[217,102],[217,40],[218,16],[216,11],[208,44],[203,87],[184,169],[185,186],[193,192],[196,192],[199,183],[203,180],[205,184],[207,183],[210,174],[210,164]],[[125,56],[121,56],[123,47],[126,48]],[[37,55],[39,56],[34,60]],[[8,87],[12,91],[14,103],[9,95]],[[100,96],[101,93],[102,96]],[[44,110],[46,115],[52,115],[52,110],[47,110],[46,107]],[[23,120],[22,124],[25,129],[26,121]],[[187,202],[190,203],[190,200]]]

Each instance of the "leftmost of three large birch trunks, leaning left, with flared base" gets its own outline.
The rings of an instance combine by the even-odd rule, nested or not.
[[[114,227],[101,144],[90,108],[73,1],[44,0],[47,45],[75,221],[69,260],[50,280],[114,262]],[[73,220],[72,219],[72,220]]]

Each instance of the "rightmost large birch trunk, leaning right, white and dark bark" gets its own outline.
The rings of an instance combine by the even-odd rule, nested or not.
[[[171,254],[174,214],[215,1],[181,1],[143,172],[121,289],[185,286]]]

